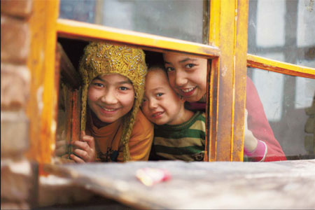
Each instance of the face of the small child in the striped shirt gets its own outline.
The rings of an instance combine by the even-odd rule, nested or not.
[[[144,102],[141,109],[148,120],[156,125],[177,125],[183,113],[183,100],[174,92],[167,74],[160,68],[148,71]]]

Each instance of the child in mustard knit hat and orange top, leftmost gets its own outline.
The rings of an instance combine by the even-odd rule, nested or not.
[[[148,160],[153,125],[139,110],[146,70],[143,50],[101,42],[85,47],[79,64],[82,132],[72,160]]]

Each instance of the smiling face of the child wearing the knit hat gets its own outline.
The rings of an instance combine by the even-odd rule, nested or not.
[[[113,123],[132,109],[134,87],[118,73],[97,76],[87,90],[87,104],[104,125]]]

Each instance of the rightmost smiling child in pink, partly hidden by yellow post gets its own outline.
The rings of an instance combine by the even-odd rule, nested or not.
[[[207,92],[207,59],[177,52],[163,54],[170,85],[190,108],[205,109]],[[274,138],[253,82],[247,78],[244,153],[253,161],[286,160]],[[247,116],[248,114],[248,116]],[[247,122],[248,121],[248,122]],[[248,124],[247,124],[248,123]]]

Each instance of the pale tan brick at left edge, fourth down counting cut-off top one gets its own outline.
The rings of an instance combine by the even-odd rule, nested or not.
[[[27,151],[28,136],[29,120],[23,111],[1,111],[1,159]]]

